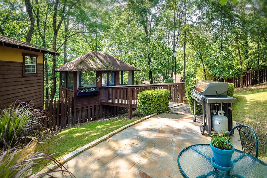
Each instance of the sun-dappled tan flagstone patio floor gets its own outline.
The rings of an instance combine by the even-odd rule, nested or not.
[[[179,152],[192,144],[209,143],[211,138],[200,134],[200,123],[193,122],[188,107],[174,106],[173,114],[155,115],[128,127],[64,166],[77,178],[182,177]],[[55,176],[60,177],[59,173]]]

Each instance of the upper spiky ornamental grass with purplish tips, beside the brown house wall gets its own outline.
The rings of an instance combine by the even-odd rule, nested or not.
[[[48,117],[30,104],[10,105],[0,111],[0,150],[24,144],[27,136],[36,136],[45,130],[44,121]]]

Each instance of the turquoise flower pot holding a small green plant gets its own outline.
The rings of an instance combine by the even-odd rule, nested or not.
[[[230,143],[228,143],[228,144],[232,146],[232,148],[233,148],[232,150],[218,149],[218,148],[212,146],[212,142],[210,142],[210,147],[211,147],[212,152],[213,152],[215,164],[217,164],[218,166],[221,166],[221,167],[225,167],[225,168],[229,167],[233,152],[235,150],[235,147],[232,144],[230,144]]]

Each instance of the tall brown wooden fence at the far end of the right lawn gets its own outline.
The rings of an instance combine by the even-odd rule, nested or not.
[[[223,82],[233,83],[235,87],[240,87],[240,77],[224,79]],[[259,82],[267,81],[267,69],[260,69]],[[258,83],[258,70],[243,72],[243,86],[255,85]]]

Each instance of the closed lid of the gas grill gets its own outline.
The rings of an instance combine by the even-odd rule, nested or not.
[[[213,80],[199,80],[192,88],[201,95],[226,96],[228,83]]]

